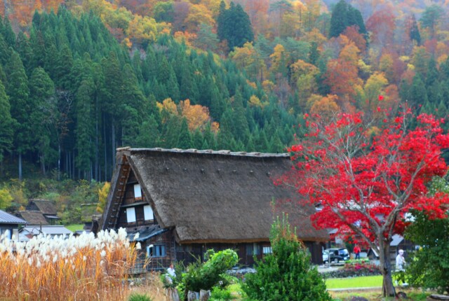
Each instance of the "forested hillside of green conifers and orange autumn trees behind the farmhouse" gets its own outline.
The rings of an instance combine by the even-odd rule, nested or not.
[[[281,152],[304,113],[447,115],[442,1],[0,2],[8,177],[107,181],[119,146]]]

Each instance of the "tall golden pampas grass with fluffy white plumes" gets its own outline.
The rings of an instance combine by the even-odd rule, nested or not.
[[[124,300],[137,251],[126,230],[79,237],[39,235],[26,243],[0,237],[0,298]]]

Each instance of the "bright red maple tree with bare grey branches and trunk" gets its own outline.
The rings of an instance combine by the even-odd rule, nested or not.
[[[383,97],[379,97],[382,101]],[[304,202],[321,205],[311,218],[317,228],[357,237],[380,256],[383,294],[396,295],[389,242],[403,234],[411,209],[441,218],[448,195],[429,196],[427,183],[443,176],[442,150],[449,135],[443,120],[402,109],[396,116],[341,113],[330,121],[307,116],[304,139],[291,146],[295,168],[277,183],[293,186]]]

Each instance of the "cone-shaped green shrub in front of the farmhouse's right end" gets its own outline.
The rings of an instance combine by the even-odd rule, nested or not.
[[[254,300],[332,300],[306,248],[291,232],[286,218],[272,225],[273,253],[257,261],[256,273],[247,274],[243,290]]]

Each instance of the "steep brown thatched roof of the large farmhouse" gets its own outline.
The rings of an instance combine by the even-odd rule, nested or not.
[[[268,241],[274,216],[289,213],[303,240],[328,240],[309,220],[314,208],[297,205],[297,193],[273,181],[291,169],[288,154],[182,151],[161,148],[117,150],[107,228],[121,165],[129,163],[161,228],[175,228],[177,241]],[[276,202],[274,202],[276,201]],[[274,206],[272,206],[276,203]]]

